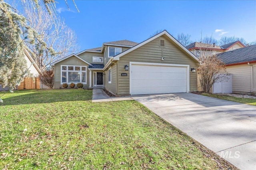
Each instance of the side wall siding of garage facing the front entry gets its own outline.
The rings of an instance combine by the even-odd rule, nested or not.
[[[108,70],[106,70],[106,75],[105,75],[105,79],[104,79],[104,86],[106,88],[106,90],[112,92],[113,94],[117,94],[116,92],[116,86],[117,86],[117,82],[116,82],[116,78],[117,78],[117,65],[118,64],[114,64],[111,66],[111,83],[108,83]]]

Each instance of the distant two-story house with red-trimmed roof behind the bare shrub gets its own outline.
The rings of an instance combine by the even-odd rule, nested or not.
[[[202,53],[204,53],[205,55],[214,55],[214,54],[219,54],[226,51],[240,49],[243,47],[245,47],[245,45],[242,44],[240,41],[235,41],[235,42],[228,43],[221,46],[215,45],[215,43],[206,44],[206,43],[194,42],[186,46],[186,49],[191,51],[195,56],[200,57]]]

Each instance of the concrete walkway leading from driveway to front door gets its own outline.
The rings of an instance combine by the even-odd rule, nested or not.
[[[102,88],[94,88],[92,90],[92,102],[112,102],[120,100],[133,100],[130,96],[109,97]]]

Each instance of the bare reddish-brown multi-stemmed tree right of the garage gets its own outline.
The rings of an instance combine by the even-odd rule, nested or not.
[[[208,55],[208,51],[201,50],[198,64],[198,78],[202,91],[210,93],[214,83],[228,80],[225,64],[216,56]],[[222,75],[221,75],[222,74]]]

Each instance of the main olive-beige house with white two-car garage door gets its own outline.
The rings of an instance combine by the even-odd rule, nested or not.
[[[55,88],[82,82],[104,86],[117,96],[197,90],[198,58],[166,30],[143,41],[103,43],[102,47],[69,55],[54,65]]]

